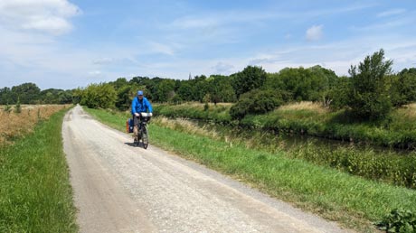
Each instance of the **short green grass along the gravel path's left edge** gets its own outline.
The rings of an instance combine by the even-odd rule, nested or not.
[[[0,232],[77,232],[61,110],[0,148]]]

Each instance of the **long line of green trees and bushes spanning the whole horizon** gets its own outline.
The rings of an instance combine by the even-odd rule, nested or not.
[[[247,114],[266,113],[293,101],[319,101],[332,109],[345,108],[352,116],[377,120],[389,115],[393,107],[416,101],[416,69],[392,72],[392,61],[384,51],[368,55],[352,65],[350,76],[338,77],[321,66],[285,68],[268,73],[261,67],[247,66],[229,76],[204,75],[186,80],[148,77],[118,78],[86,88],[40,91],[33,83],[1,89],[1,103],[80,103],[87,107],[117,107],[127,110],[138,89],[152,102],[185,101],[234,103],[230,114],[241,119]],[[7,98],[5,98],[6,96]]]

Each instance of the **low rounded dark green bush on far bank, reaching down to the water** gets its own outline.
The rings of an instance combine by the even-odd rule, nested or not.
[[[264,114],[282,104],[279,93],[272,90],[254,89],[241,95],[240,100],[230,109],[232,119],[242,119],[248,114]]]

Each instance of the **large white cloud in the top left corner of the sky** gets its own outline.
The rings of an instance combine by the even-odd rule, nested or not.
[[[14,31],[60,35],[72,29],[68,21],[80,8],[67,0],[2,0],[0,23]]]

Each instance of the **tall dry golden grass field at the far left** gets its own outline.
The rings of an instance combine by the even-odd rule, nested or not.
[[[29,105],[22,106],[21,113],[0,109],[0,145],[11,144],[14,138],[22,137],[33,131],[39,121],[48,119],[57,111],[71,105]]]

